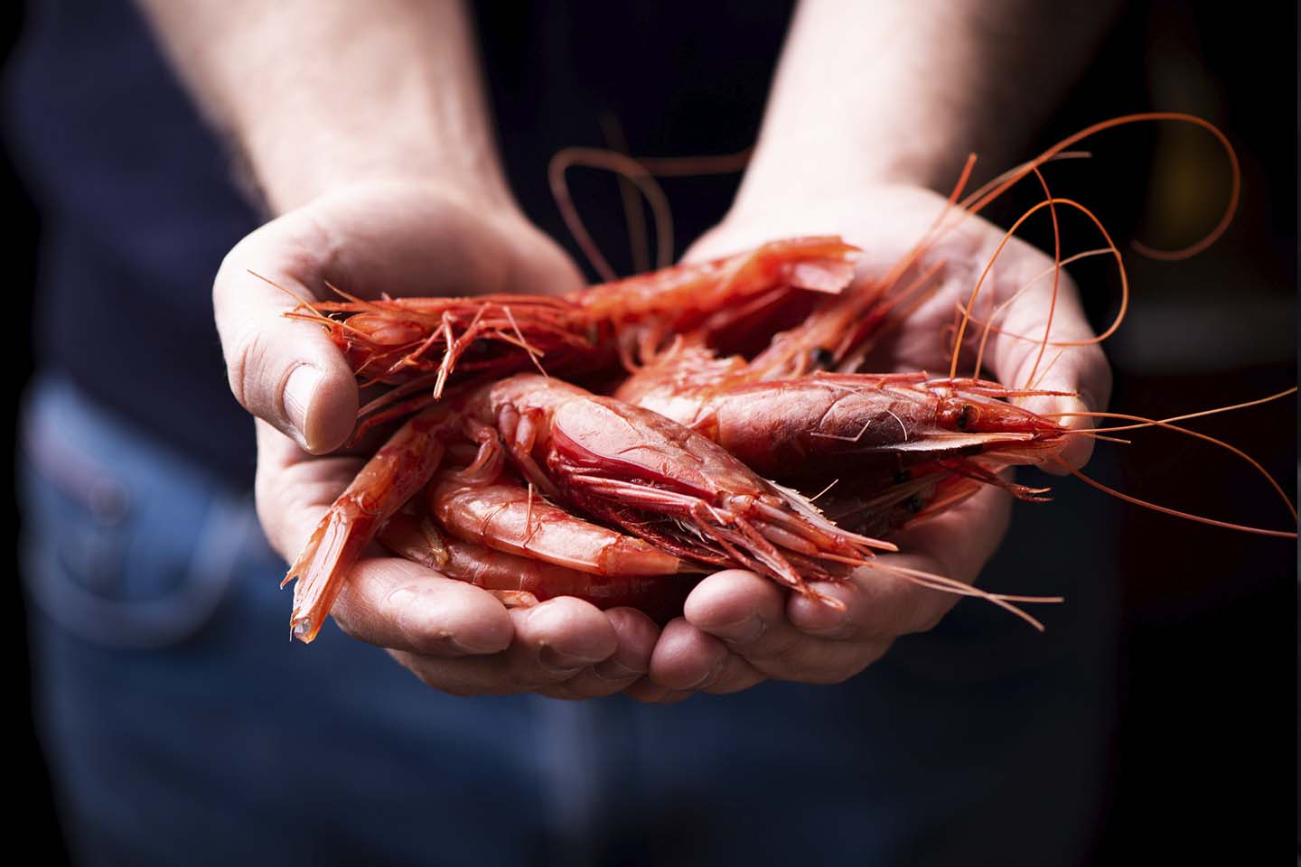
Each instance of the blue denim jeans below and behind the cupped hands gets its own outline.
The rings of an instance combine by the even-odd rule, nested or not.
[[[1114,680],[1086,498],[1020,510],[986,571],[1068,597],[1043,636],[967,601],[839,686],[466,699],[333,625],[291,643],[251,497],[74,386],[23,425],[35,712],[83,863],[1086,858]]]

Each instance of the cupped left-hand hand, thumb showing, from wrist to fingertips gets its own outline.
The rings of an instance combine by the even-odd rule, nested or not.
[[[353,432],[358,387],[321,329],[282,316],[294,298],[250,270],[303,299],[328,292],[325,281],[368,298],[582,286],[563,251],[514,207],[423,182],[343,187],[241,240],[213,285],[217,331],[230,389],[258,417],[258,515],[289,562],[362,467],[329,454]],[[474,585],[377,551],[353,569],[332,616],[424,682],[463,695],[615,693],[649,669],[658,637],[631,608],[562,598],[507,611]]]

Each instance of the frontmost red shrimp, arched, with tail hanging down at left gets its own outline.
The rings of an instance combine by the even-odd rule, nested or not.
[[[647,571],[673,558],[743,567],[838,604],[807,580],[843,578],[873,549],[895,550],[837,528],[799,494],[654,412],[516,374],[409,420],[336,500],[285,577],[301,576],[295,637],[316,636],[362,549],[433,477],[445,443],[466,437],[480,450],[463,477],[492,480],[509,458],[549,500],[653,543],[658,551],[640,555],[654,563]]]

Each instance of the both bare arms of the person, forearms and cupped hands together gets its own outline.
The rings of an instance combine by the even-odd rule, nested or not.
[[[304,299],[319,298],[325,279],[363,296],[567,291],[578,270],[511,201],[461,4],[141,5],[275,217],[232,250],[213,302],[232,391],[258,417],[259,516],[289,560],[360,465],[329,454],[347,437],[358,391],[319,329],[281,317],[294,299],[248,269]],[[995,165],[1017,152],[1034,123],[1029,108],[1054,104],[1110,14],[1094,4],[1069,13],[1079,19],[1056,10],[1050,19],[1034,6],[804,3],[736,205],[691,257],[829,231],[865,244],[865,266],[892,261],[916,238],[902,237],[934,213],[938,200],[924,187],[950,185],[972,147]],[[990,233],[976,234],[976,247],[951,259],[955,287],[969,290],[963,268],[969,279],[982,264]],[[1007,259],[1034,270],[1041,260],[1032,260],[1020,248]],[[1036,298],[1017,303],[1010,326],[1042,321]],[[891,364],[929,357],[952,312],[945,303],[896,334]],[[1059,335],[1086,330],[1069,298],[1058,322]],[[1021,376],[1017,363],[1015,348],[995,350],[999,376]],[[1088,391],[1092,406],[1105,402],[1101,354],[1063,359],[1054,377]],[[900,539],[917,551],[907,563],[973,580],[1006,520],[1002,495],[986,491]],[[372,556],[351,575],[334,619],[457,694],[584,698],[631,686],[639,698],[673,701],[765,677],[843,680],[894,636],[933,625],[951,602],[894,580],[824,591],[847,612],[725,572],[660,634],[635,611],[574,599],[507,612],[477,588]]]

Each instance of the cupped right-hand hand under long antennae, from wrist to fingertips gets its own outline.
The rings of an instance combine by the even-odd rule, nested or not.
[[[860,276],[885,274],[934,222],[945,199],[911,186],[874,186],[842,199],[817,203],[768,200],[751,195],[708,233],[690,259],[719,256],[771,238],[839,234],[864,251]],[[1003,239],[1003,230],[964,218],[933,243],[913,273],[942,263],[938,289],[873,351],[869,369],[929,370],[946,376],[950,359],[943,329],[954,321],[955,305],[965,305],[972,287]],[[1011,299],[998,325],[1010,334],[1041,334],[1047,317],[1053,260],[1013,239],[999,255],[981,289],[978,309]],[[907,282],[907,277],[904,278]],[[978,335],[978,329],[973,329]],[[972,338],[972,330],[968,338]],[[1054,341],[1093,337],[1080,308],[1076,287],[1063,272],[1053,318]],[[968,343],[971,341],[968,339]],[[1036,368],[1038,344],[991,334],[985,361],[1008,385],[1021,385]],[[1105,407],[1111,374],[1097,346],[1064,347],[1037,364],[1037,387],[1076,393],[1079,398],[1037,398],[1028,406],[1039,412],[1071,412]],[[971,374],[969,368],[959,376]],[[1085,426],[1085,419],[1067,419]],[[1075,438],[1062,454],[1082,467],[1092,442]],[[1053,468],[1046,468],[1054,472]],[[1056,471],[1064,472],[1064,471]],[[878,563],[938,573],[974,582],[1007,530],[1010,497],[985,489],[942,515],[919,523],[892,538],[902,554]],[[813,684],[839,682],[878,659],[902,634],[933,628],[958,597],[928,590],[882,571],[860,569],[844,584],[818,584],[817,590],[844,603],[844,611],[790,594],[749,572],[726,571],[705,578],[687,598],[683,617],[670,623],[654,649],[649,679],[630,692],[647,701],[673,701],[695,690],[727,693],[765,679]]]

